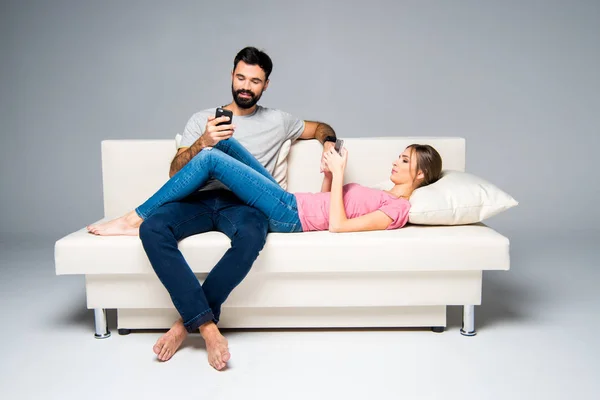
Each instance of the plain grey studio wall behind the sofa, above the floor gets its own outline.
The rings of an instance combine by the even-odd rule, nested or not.
[[[263,105],[342,137],[465,137],[467,170],[520,202],[502,233],[597,229],[600,2],[169,3],[2,2],[0,235],[102,217],[100,141],[229,102],[246,45],[274,61]]]

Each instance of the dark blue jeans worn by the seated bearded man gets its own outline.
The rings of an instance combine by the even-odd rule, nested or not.
[[[148,260],[188,332],[197,332],[209,321],[219,322],[221,305],[250,271],[265,244],[267,229],[263,213],[227,190],[193,193],[161,206],[142,222],[140,239]],[[227,235],[231,247],[200,285],[177,243],[214,230]]]

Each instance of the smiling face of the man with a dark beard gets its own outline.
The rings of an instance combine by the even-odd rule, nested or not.
[[[239,108],[252,108],[269,86],[265,71],[240,61],[231,73],[231,94]]]

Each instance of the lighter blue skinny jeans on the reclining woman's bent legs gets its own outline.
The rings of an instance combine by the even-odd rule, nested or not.
[[[146,220],[162,205],[194,193],[209,178],[218,179],[245,204],[262,211],[271,232],[302,232],[296,197],[283,190],[234,138],[202,150],[135,211]]]

